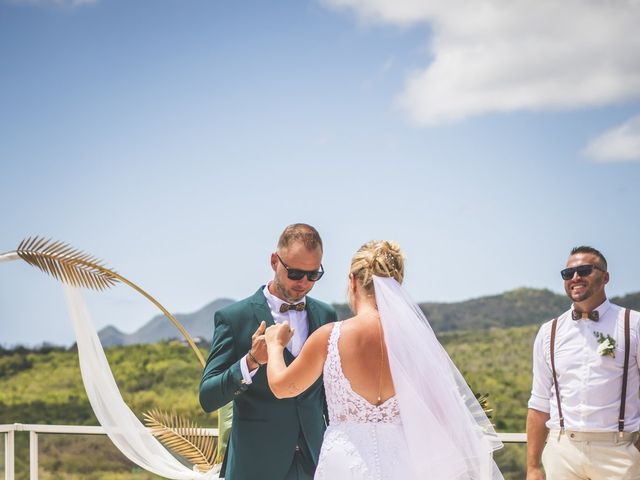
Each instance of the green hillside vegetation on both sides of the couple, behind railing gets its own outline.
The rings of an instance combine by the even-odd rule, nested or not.
[[[439,335],[475,392],[488,393],[499,432],[523,432],[531,388],[531,345],[537,326],[454,331]],[[106,350],[131,409],[175,411],[203,427],[215,418],[198,403],[201,368],[180,342]],[[0,424],[97,425],[87,401],[74,349],[0,349]],[[17,478],[28,478],[28,436],[18,433]],[[102,437],[42,435],[42,478],[157,478],[136,470]],[[523,478],[525,450],[507,446],[496,459],[507,479]],[[134,472],[134,473],[131,473]],[[126,474],[126,475],[125,475]]]

